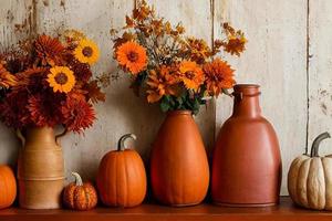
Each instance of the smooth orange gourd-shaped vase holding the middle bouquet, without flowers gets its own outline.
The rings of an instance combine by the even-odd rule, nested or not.
[[[168,113],[153,144],[151,179],[154,197],[164,204],[193,206],[205,198],[208,160],[189,110]]]

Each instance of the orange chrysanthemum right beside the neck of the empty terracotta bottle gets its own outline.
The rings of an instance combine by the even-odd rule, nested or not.
[[[216,59],[207,63],[203,67],[205,73],[205,81],[207,92],[211,96],[218,96],[225,88],[231,88],[236,81],[234,80],[234,72],[227,62]]]

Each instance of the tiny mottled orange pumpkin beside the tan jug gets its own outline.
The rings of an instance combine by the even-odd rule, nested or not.
[[[75,181],[66,186],[63,190],[63,203],[73,210],[90,210],[97,203],[97,193],[90,182],[82,181],[77,172],[72,172]]]

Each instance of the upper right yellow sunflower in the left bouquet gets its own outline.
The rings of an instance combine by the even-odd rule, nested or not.
[[[91,65],[98,60],[100,50],[93,41],[89,39],[82,39],[74,50],[74,56],[79,62]]]

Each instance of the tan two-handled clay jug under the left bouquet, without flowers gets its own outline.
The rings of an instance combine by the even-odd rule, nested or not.
[[[64,165],[62,149],[55,140],[53,128],[29,128],[27,138],[21,134],[19,137],[23,143],[18,162],[20,207],[60,208]]]

